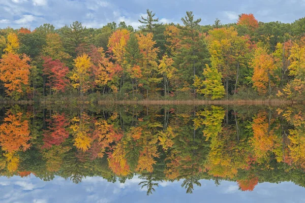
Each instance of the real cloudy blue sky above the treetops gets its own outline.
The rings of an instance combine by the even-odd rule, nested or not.
[[[75,20],[87,27],[125,21],[137,28],[147,8],[164,23],[180,23],[186,11],[194,11],[202,25],[215,18],[236,22],[240,13],[253,13],[263,22],[293,22],[305,16],[305,0],[0,0],[0,28],[34,29],[43,23],[59,28]]]

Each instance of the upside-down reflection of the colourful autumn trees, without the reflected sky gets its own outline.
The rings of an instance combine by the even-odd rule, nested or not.
[[[152,194],[162,181],[192,193],[200,180],[305,186],[300,108],[13,106],[0,110],[0,174],[74,183],[137,176]]]

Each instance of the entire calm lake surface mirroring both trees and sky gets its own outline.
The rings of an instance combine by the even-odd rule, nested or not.
[[[304,109],[2,107],[0,202],[304,202]]]

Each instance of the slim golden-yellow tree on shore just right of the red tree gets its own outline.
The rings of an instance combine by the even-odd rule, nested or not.
[[[73,81],[73,87],[78,89],[81,97],[83,97],[84,93],[89,88],[89,69],[91,66],[91,58],[85,53],[81,56],[77,56],[77,58],[74,59],[74,69],[70,78]]]

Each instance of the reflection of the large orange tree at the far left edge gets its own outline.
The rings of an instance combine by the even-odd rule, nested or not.
[[[10,153],[25,151],[31,146],[27,143],[31,139],[29,133],[28,121],[22,120],[22,113],[9,113],[0,125],[0,145],[3,150]]]

